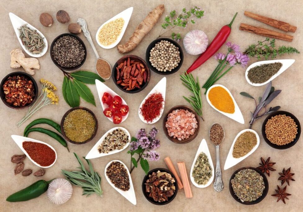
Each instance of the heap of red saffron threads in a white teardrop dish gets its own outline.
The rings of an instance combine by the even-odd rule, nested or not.
[[[152,120],[160,116],[163,108],[163,102],[164,99],[161,93],[153,93],[149,95],[140,108],[144,120],[147,122],[152,122]]]

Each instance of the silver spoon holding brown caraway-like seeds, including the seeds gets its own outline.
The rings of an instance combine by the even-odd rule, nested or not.
[[[220,154],[219,154],[219,145],[224,140],[224,129],[219,123],[215,123],[211,125],[209,130],[209,139],[216,147],[216,155],[217,155],[217,164],[216,164],[216,171],[215,171],[215,183],[214,189],[217,192],[222,191],[224,185],[222,181],[222,172],[220,169]]]

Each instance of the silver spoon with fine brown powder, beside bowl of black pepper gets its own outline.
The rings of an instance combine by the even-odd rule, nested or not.
[[[109,62],[107,62],[106,60],[100,58],[96,50],[96,47],[93,43],[92,37],[90,36],[90,33],[87,29],[86,20],[84,20],[83,18],[78,18],[77,23],[81,26],[84,36],[87,38],[88,43],[92,46],[93,51],[97,57],[97,62],[96,62],[97,73],[101,78],[109,79],[111,77],[111,64],[109,64]]]

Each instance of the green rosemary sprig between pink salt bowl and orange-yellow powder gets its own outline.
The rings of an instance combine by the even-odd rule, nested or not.
[[[199,116],[201,116],[202,120],[204,121],[202,117],[201,89],[200,89],[200,83],[198,77],[197,77],[197,82],[193,78],[192,74],[187,74],[186,72],[180,75],[180,77],[182,84],[193,94],[188,98],[184,96],[183,98],[191,104],[191,106],[196,111],[196,113]]]

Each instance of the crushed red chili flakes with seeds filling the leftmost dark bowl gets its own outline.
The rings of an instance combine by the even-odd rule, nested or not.
[[[8,77],[2,88],[6,102],[13,106],[28,105],[35,96],[33,82],[25,76]]]

